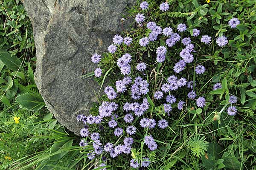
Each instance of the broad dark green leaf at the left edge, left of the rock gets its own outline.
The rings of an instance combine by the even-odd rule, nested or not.
[[[16,56],[11,56],[7,51],[0,51],[0,59],[11,70],[18,71],[21,62]]]

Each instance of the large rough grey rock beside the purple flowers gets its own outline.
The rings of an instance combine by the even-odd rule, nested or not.
[[[90,62],[121,31],[121,14],[136,0],[23,0],[36,46],[35,81],[55,118],[79,135],[76,115],[88,113],[99,85],[81,79],[94,71]]]

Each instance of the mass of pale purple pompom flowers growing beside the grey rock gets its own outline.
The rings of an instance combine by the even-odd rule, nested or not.
[[[148,2],[143,1],[140,4],[141,13],[135,16],[136,23],[143,26],[141,29],[144,31],[141,33],[142,36],[137,38],[127,34],[122,37],[116,34],[113,38],[113,44],[108,47],[108,55],[113,56],[119,73],[117,74],[118,79],[112,79],[113,84],[105,87],[104,93],[107,98],[98,106],[98,114],[77,116],[77,121],[85,124],[85,127],[80,131],[81,136],[84,137],[80,146],[85,147],[88,144],[86,139],[90,139],[93,145],[94,150],[87,154],[88,159],[94,159],[96,155],[103,152],[111,158],[120,155],[128,156],[131,154],[132,148],[140,145],[139,140],[134,140],[138,134],[144,135],[143,143],[149,151],[157,150],[159,144],[153,138],[154,129],[167,130],[170,121],[169,116],[174,110],[176,113],[183,113],[188,106],[204,108],[207,105],[207,99],[195,88],[197,85],[193,75],[200,79],[207,72],[207,69],[204,67],[204,62],[196,59],[195,55],[198,55],[199,45],[193,42],[199,39],[202,45],[209,45],[214,43],[212,37],[209,35],[201,36],[201,30],[198,28],[192,30],[190,37],[185,23],[179,23],[175,28],[170,26],[162,28],[153,21],[146,22],[147,17],[143,11],[147,11],[148,8]],[[167,2],[162,3],[159,9],[166,12],[169,10],[169,4]],[[239,20],[235,18],[229,22],[231,28],[235,28],[238,24]],[[145,29],[147,30],[145,31]],[[154,54],[151,55],[151,59],[156,61],[154,64],[147,63],[143,57],[138,57],[137,53],[129,52],[129,49],[135,45],[147,49],[151,43],[155,43],[157,40],[161,40],[163,43],[158,45]],[[177,51],[175,48],[177,56],[171,56],[170,52],[175,45],[179,46],[180,49]],[[216,45],[219,47],[227,45],[227,37],[218,37]],[[125,47],[127,49],[123,49]],[[172,58],[171,63],[169,62],[170,58]],[[93,54],[91,60],[101,66],[99,54]],[[155,82],[157,86],[154,86],[155,83],[148,79],[151,75],[146,74],[149,70],[149,73],[153,72],[152,65],[154,65],[153,67],[163,65],[163,68],[164,65],[172,65],[169,70],[170,74],[163,78],[160,83]],[[192,76],[186,76],[185,70],[192,70]],[[101,68],[96,68],[94,73],[96,77],[101,77]],[[222,88],[221,83],[213,85],[213,90],[220,88]],[[185,91],[185,95],[182,95],[184,92],[181,93],[181,91]],[[175,96],[174,94],[177,93],[179,95]],[[234,104],[237,102],[237,98],[230,96],[229,102]],[[161,112],[163,116],[154,114],[154,107],[159,107],[160,111],[163,110]],[[227,113],[232,116],[236,115],[236,107],[231,105],[227,109]],[[163,119],[163,117],[165,118]],[[108,129],[108,133],[113,135],[115,141],[103,143],[105,141],[104,136],[90,129],[90,125],[101,124],[108,125],[105,128]],[[133,168],[148,167],[151,161],[146,156],[145,152],[143,160],[138,161],[132,158],[130,166]]]

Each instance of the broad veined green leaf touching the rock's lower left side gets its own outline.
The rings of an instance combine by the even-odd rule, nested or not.
[[[40,94],[22,94],[16,97],[16,101],[26,109],[38,111],[44,107],[44,100]]]

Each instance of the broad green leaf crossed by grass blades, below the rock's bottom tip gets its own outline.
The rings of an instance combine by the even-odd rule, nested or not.
[[[68,142],[66,142],[62,146],[61,146],[61,144],[57,144],[57,145],[53,146],[54,145],[53,144],[52,147],[54,147],[54,148],[52,149],[52,147],[51,147],[52,150],[50,149],[50,153],[51,154],[55,153],[55,152],[59,152],[59,153],[56,154],[56,155],[50,156],[49,160],[57,161],[57,160],[63,158],[63,156],[65,156],[69,152],[68,147],[71,147],[72,144],[73,144],[73,139],[69,140]]]

